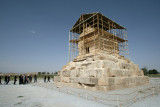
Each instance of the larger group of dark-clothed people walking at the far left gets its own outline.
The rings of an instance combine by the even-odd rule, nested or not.
[[[8,84],[10,82],[10,75],[4,76],[4,84]],[[2,84],[2,77],[0,76],[0,84]],[[14,85],[17,82],[17,75],[14,76]],[[32,82],[32,75],[19,75],[19,84],[28,84]],[[37,75],[34,75],[34,82],[37,82]]]

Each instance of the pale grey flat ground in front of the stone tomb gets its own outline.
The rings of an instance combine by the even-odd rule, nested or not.
[[[120,106],[121,102],[111,99],[117,98],[113,94],[123,94],[118,96],[119,100],[129,99],[135,96],[130,94],[137,89],[148,89],[154,83],[159,83],[160,79],[150,78],[152,85],[114,90],[108,92],[91,92],[84,89],[75,89],[73,87],[57,87],[54,82],[44,83],[38,80],[37,83],[26,85],[13,85],[11,81],[8,85],[0,85],[0,107],[110,107]],[[148,94],[150,93],[151,94]],[[154,92],[154,90],[153,90]],[[75,93],[75,94],[74,94]],[[82,95],[84,93],[84,95]],[[147,96],[148,95],[148,96]],[[114,97],[113,97],[114,96]],[[96,99],[95,99],[96,98]],[[102,101],[100,99],[109,99]],[[152,90],[145,91],[136,97],[136,101],[122,103],[122,106],[131,107],[159,107],[160,94]]]

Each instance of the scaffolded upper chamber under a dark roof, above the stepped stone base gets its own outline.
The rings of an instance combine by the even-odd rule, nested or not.
[[[127,30],[101,13],[82,14],[69,32],[69,61],[99,53],[129,58]]]

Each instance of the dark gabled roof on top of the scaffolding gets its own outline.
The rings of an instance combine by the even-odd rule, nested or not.
[[[110,22],[114,23],[115,24],[115,28],[114,29],[126,29],[125,27],[119,25],[118,23],[114,22],[113,20],[107,18],[103,14],[96,12],[96,13],[82,14],[70,31],[74,32],[74,33],[78,33],[78,31],[79,31],[78,26],[81,25],[83,22],[91,21],[92,20],[91,18],[96,16],[96,15],[98,15],[99,17],[102,17],[102,19],[105,22],[110,21]]]

